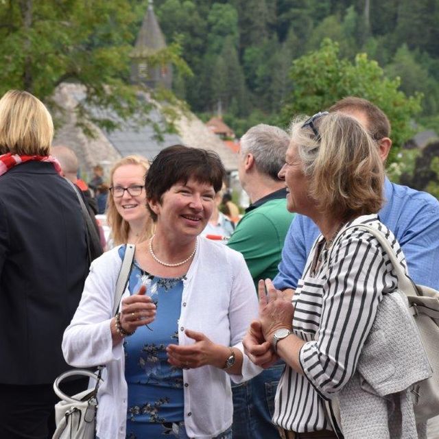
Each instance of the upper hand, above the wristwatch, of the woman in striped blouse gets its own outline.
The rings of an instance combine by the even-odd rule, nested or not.
[[[268,294],[265,294],[265,287]],[[261,331],[267,342],[272,342],[274,333],[278,329],[291,329],[294,316],[294,307],[291,300],[285,298],[283,292],[274,288],[270,279],[259,281],[259,319]]]

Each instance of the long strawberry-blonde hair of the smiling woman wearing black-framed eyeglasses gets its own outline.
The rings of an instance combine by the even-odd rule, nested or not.
[[[145,169],[145,175],[148,169],[150,169],[150,162],[142,156],[132,155],[123,157],[117,163],[115,163],[110,171],[110,185],[112,185],[112,177],[115,174],[116,169],[126,165],[139,165],[143,167],[143,169]],[[111,235],[115,246],[119,246],[119,244],[126,244],[128,241],[128,235],[130,233],[130,224],[128,224],[128,222],[126,222],[117,211],[115,200],[113,200],[112,194],[108,195],[107,198],[106,215],[108,225],[111,227]],[[145,215],[148,217],[147,225],[143,235],[141,236],[141,239],[139,239],[139,242],[150,238],[154,233],[154,223],[152,222],[148,211],[146,211]]]

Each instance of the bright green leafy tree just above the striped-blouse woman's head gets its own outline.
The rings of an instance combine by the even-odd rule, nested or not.
[[[293,91],[283,108],[285,125],[294,115],[311,115],[353,95],[370,100],[388,115],[394,143],[392,158],[413,133],[410,121],[420,111],[421,95],[407,97],[399,90],[399,78],[387,78],[366,54],[357,54],[351,62],[339,56],[337,43],[325,39],[318,51],[294,60],[290,77]]]

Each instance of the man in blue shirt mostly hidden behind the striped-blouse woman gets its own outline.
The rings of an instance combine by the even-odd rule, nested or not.
[[[390,123],[385,114],[366,99],[346,97],[329,111],[340,111],[355,117],[377,141],[379,154],[386,160],[392,146]],[[426,192],[396,185],[388,178],[384,185],[386,203],[379,219],[394,233],[407,259],[409,274],[415,283],[439,289],[439,202]],[[290,226],[274,278],[277,289],[296,289],[311,246],[320,234],[316,224],[296,215]]]

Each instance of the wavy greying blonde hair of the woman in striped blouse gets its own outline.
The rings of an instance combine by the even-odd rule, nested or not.
[[[318,209],[340,219],[377,213],[383,205],[384,167],[377,144],[361,124],[340,112],[313,121],[320,138],[304,118],[292,123],[292,142],[305,176],[309,195]]]

